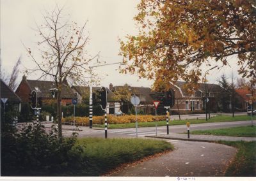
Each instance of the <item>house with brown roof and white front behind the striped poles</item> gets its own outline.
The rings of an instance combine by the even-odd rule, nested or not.
[[[78,103],[82,103],[84,101],[89,102],[90,98],[90,87],[85,86],[72,86],[72,91],[77,95]],[[100,91],[101,87],[92,87],[93,93],[96,91]],[[107,113],[115,114],[120,110],[121,101],[116,98],[115,94],[106,87],[108,96],[107,96]]]

